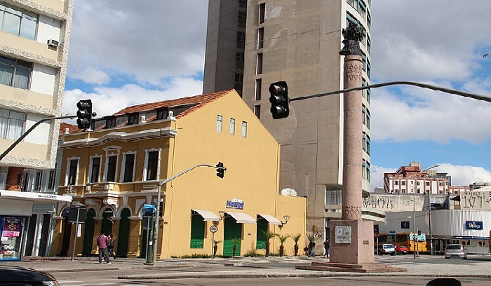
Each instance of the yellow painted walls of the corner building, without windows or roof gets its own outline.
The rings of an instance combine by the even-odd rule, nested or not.
[[[217,132],[217,115],[222,115],[222,131]],[[235,135],[229,133],[230,118],[235,118]],[[247,122],[247,136],[242,136],[242,122]],[[199,167],[186,174],[173,179],[162,187],[164,199],[164,216],[159,230],[159,258],[179,257],[190,254],[211,254],[212,233],[208,230],[212,222],[206,222],[206,236],[202,249],[190,248],[191,236],[191,210],[210,210],[219,215],[221,210],[230,212],[243,212],[254,219],[257,214],[269,214],[277,219],[283,219],[283,215],[290,215],[290,221],[283,228],[269,226],[269,231],[281,235],[302,234],[299,247],[304,247],[305,240],[305,208],[306,198],[287,197],[279,195],[279,144],[264,128],[259,119],[245,105],[241,97],[234,91],[217,98],[213,102],[190,112],[185,116],[177,116],[176,121],[161,121],[160,123],[145,123],[116,128],[117,130],[100,130],[97,132],[84,132],[68,135],[65,142],[97,138],[114,131],[135,132],[165,125],[177,130],[177,135],[170,138],[142,139],[135,142],[122,142],[110,140],[104,144],[92,147],[65,148],[61,166],[60,184],[65,183],[67,170],[67,158],[80,157],[79,180],[76,186],[74,200],[85,203],[85,198],[99,199],[102,207],[103,198],[107,192],[91,191],[83,193],[84,184],[87,182],[90,156],[102,155],[101,171],[105,165],[105,147],[120,146],[117,177],[121,175],[123,152],[137,151],[135,181],[142,180],[144,168],[144,150],[150,148],[162,148],[161,168],[159,179],[173,177],[180,172],[199,164],[212,165],[213,168]],[[227,168],[224,178],[216,176],[215,165],[224,163]],[[142,191],[141,185],[152,185],[152,182],[140,182],[124,184],[124,189],[133,187],[133,191],[114,191],[119,196],[119,207],[123,207],[122,198],[128,196],[127,206],[131,207],[132,216],[139,216],[140,208],[135,206],[137,200],[144,198],[146,203],[151,203],[156,198],[156,187],[146,190],[142,196],[135,193]],[[123,189],[123,184],[115,190]],[[62,186],[60,189],[66,189]],[[115,196],[112,193],[112,196]],[[150,194],[150,196],[149,196]],[[150,198],[150,199],[149,199]],[[243,210],[227,209],[227,200],[238,198],[245,203]],[[97,213],[97,210],[96,210]],[[118,229],[119,221],[113,227]],[[98,225],[100,227],[100,224]],[[97,233],[96,224],[95,233]],[[241,254],[255,250],[257,229],[256,224],[243,224],[243,237],[241,241]],[[219,231],[215,233],[215,240],[223,241],[223,223],[218,225]],[[141,247],[141,220],[130,220],[130,238],[128,256],[136,257]],[[62,234],[55,240],[60,240]],[[83,241],[83,238],[80,239]],[[163,242],[163,243],[162,243]],[[54,242],[54,245],[61,245]],[[271,253],[278,253],[278,238],[270,240]],[[285,242],[285,254],[293,254],[294,242],[289,239]],[[217,254],[222,254],[222,243],[218,245]],[[60,246],[61,247],[61,246]],[[79,246],[81,247],[81,245]],[[117,237],[116,237],[117,248]],[[69,250],[71,251],[71,250]],[[264,250],[258,251],[264,253]],[[71,253],[71,252],[70,252]],[[300,251],[302,253],[302,251]]]

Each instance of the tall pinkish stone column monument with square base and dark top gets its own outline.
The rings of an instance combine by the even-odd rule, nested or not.
[[[344,89],[362,86],[361,28],[343,29]],[[342,219],[330,221],[330,263],[373,264],[373,222],[361,220],[362,91],[344,93]]]

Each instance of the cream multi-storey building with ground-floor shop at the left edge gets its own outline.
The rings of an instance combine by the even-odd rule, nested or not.
[[[0,1],[2,152],[38,121],[62,115],[73,4]],[[72,200],[56,194],[59,130],[59,121],[44,121],[1,159],[0,226],[17,229],[4,233],[0,228],[0,260],[49,252],[54,204]]]

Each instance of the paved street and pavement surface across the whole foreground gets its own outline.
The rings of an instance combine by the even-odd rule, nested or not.
[[[51,258],[53,259],[53,258]],[[384,256],[376,263],[407,268],[400,273],[339,273],[304,271],[296,265],[328,261],[322,257],[237,257],[236,259],[163,259],[145,266],[144,259],[116,259],[113,264],[99,265],[97,258],[62,260],[4,261],[2,264],[36,268],[52,273],[61,285],[271,285],[282,279],[287,285],[425,285],[436,277],[455,277],[469,285],[491,285],[491,257],[470,255],[469,259],[444,259],[443,256]],[[194,278],[194,279],[190,279]],[[199,278],[199,280],[196,280]],[[342,278],[342,279],[341,279]],[[194,281],[194,282],[192,282]],[[211,282],[209,282],[211,281]],[[269,282],[268,282],[269,281]],[[358,281],[360,284],[357,284]],[[425,282],[426,281],[426,282]],[[213,282],[213,283],[212,283]],[[425,282],[424,284],[421,284]],[[278,282],[279,283],[279,282]],[[296,284],[295,284],[296,283]],[[307,283],[307,284],[306,284]],[[330,284],[333,283],[333,284]],[[373,284],[372,284],[373,283]],[[391,284],[392,283],[392,284]],[[470,284],[472,283],[472,284]],[[485,284],[483,284],[485,283]],[[243,284],[245,285],[245,284]],[[464,283],[463,285],[466,285]]]

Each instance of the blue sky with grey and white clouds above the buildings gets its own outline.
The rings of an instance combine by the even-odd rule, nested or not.
[[[64,112],[86,98],[100,117],[201,94],[207,10],[205,0],[76,0]],[[372,83],[491,96],[491,57],[483,57],[491,54],[491,5],[372,0],[371,11]],[[453,184],[491,182],[491,103],[396,86],[373,89],[370,104],[372,189],[411,161],[440,163]]]

